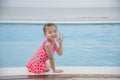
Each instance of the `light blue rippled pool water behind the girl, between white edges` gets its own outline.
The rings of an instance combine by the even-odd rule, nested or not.
[[[24,67],[45,40],[43,25],[0,23],[0,67]],[[57,26],[65,35],[57,66],[120,66],[120,23]]]

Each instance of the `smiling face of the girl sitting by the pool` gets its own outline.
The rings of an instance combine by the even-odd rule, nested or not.
[[[46,27],[45,37],[50,40],[55,40],[58,36],[57,28],[55,26]]]

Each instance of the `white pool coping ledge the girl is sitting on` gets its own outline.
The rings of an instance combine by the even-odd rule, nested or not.
[[[62,69],[62,73],[45,72],[44,75],[59,75],[59,74],[85,74],[85,75],[117,75],[120,77],[120,67],[56,67]],[[27,71],[26,67],[9,67],[0,68],[0,76],[21,76],[21,75],[36,75]]]

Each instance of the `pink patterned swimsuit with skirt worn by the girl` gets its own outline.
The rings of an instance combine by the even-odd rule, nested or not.
[[[29,72],[36,74],[43,74],[47,68],[46,61],[48,60],[48,55],[44,49],[44,45],[48,42],[47,40],[43,42],[42,46],[37,50],[35,56],[37,56],[40,62],[37,62],[34,57],[27,63],[26,67]],[[52,48],[52,53],[54,53],[55,47]]]

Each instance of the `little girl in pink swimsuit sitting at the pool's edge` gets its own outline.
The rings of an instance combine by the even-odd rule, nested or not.
[[[29,72],[36,74],[43,74],[50,68],[54,73],[63,72],[63,70],[56,70],[53,57],[55,51],[60,56],[63,53],[63,34],[58,37],[57,26],[54,23],[45,24],[43,32],[46,40],[27,63],[26,67]]]

